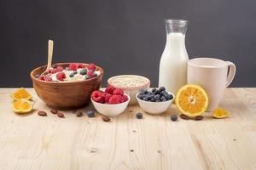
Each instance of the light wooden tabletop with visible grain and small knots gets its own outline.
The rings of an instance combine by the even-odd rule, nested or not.
[[[160,116],[143,114],[139,106],[102,122],[64,111],[61,119],[38,99],[37,111],[25,116],[12,109],[9,94],[0,89],[0,169],[256,169],[256,88],[228,88],[220,107],[231,117],[172,122],[175,105]],[[90,105],[81,111],[92,108]]]

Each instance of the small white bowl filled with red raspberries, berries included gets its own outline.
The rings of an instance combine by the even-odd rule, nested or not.
[[[104,116],[119,116],[125,111],[130,101],[130,96],[124,94],[122,88],[108,86],[104,91],[94,91],[90,100],[96,111]]]

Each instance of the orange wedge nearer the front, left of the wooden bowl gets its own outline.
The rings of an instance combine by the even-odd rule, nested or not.
[[[19,99],[14,101],[14,111],[15,113],[28,113],[32,111],[34,102],[28,99]]]

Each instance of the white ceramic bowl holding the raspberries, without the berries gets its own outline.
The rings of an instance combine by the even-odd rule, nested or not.
[[[130,96],[125,94],[128,97],[128,100],[121,104],[101,104],[90,99],[96,111],[101,113],[103,116],[119,116],[122,112],[125,111],[127,105],[130,102]]]

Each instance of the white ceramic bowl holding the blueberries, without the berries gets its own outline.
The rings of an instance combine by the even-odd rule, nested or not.
[[[172,94],[167,92],[168,94]],[[138,95],[139,93],[137,93]],[[136,98],[137,98],[136,95]],[[172,101],[175,98],[174,94],[172,94],[173,98],[167,101],[163,102],[151,102],[151,101],[143,101],[142,99],[137,98],[137,102],[140,105],[140,107],[143,109],[143,111],[148,112],[149,114],[158,115],[165,111],[167,111],[172,105]]]

